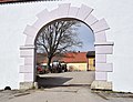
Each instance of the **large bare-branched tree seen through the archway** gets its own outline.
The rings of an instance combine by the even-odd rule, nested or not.
[[[82,47],[76,33],[79,23],[76,20],[58,20],[40,30],[37,51],[47,53],[48,68],[53,57],[71,51],[73,47]]]

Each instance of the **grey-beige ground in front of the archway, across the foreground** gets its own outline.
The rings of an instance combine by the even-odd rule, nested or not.
[[[133,93],[91,91],[90,86],[55,86],[0,91],[0,102],[133,102]]]

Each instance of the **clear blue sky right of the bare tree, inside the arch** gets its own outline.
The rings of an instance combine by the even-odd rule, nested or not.
[[[94,51],[94,34],[91,29],[81,22],[78,29],[79,38],[83,42],[82,48],[75,48],[76,51]]]

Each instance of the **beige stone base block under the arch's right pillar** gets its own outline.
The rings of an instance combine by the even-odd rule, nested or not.
[[[112,90],[112,82],[93,81],[91,84],[92,90]]]

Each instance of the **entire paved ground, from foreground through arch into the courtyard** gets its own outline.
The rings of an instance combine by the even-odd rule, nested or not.
[[[94,72],[40,75],[41,79],[39,79],[39,81],[40,85],[42,85],[41,89],[0,91],[0,102],[133,102],[132,93],[92,91],[89,85],[89,80],[83,80],[81,75],[91,75],[91,83]],[[61,81],[59,81],[59,79]],[[47,85],[44,85],[44,81],[47,81]]]

